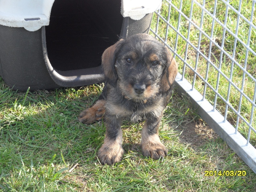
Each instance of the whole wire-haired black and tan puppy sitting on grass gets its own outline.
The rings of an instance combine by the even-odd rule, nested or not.
[[[98,152],[100,162],[110,165],[121,160],[124,118],[133,122],[145,119],[141,131],[144,156],[152,159],[166,156],[158,127],[178,71],[171,52],[154,37],[136,34],[106,49],[102,66],[106,80],[102,94],[94,106],[78,117],[87,124],[104,115],[106,135]]]

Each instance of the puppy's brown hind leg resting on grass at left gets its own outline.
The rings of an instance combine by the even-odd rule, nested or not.
[[[106,111],[106,100],[98,100],[91,108],[87,108],[80,113],[78,120],[83,124],[89,124],[94,121],[99,121]]]

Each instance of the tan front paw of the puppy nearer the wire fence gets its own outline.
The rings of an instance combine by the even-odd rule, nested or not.
[[[152,159],[160,159],[167,155],[167,149],[160,141],[141,143],[141,148],[142,154]]]

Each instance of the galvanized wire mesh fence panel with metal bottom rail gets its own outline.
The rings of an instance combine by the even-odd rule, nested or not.
[[[165,0],[150,31],[174,53],[178,92],[256,173],[255,4]]]

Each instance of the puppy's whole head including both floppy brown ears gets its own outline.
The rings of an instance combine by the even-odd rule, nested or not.
[[[106,81],[135,101],[169,91],[178,71],[171,52],[147,34],[119,40],[105,50],[102,65]]]

